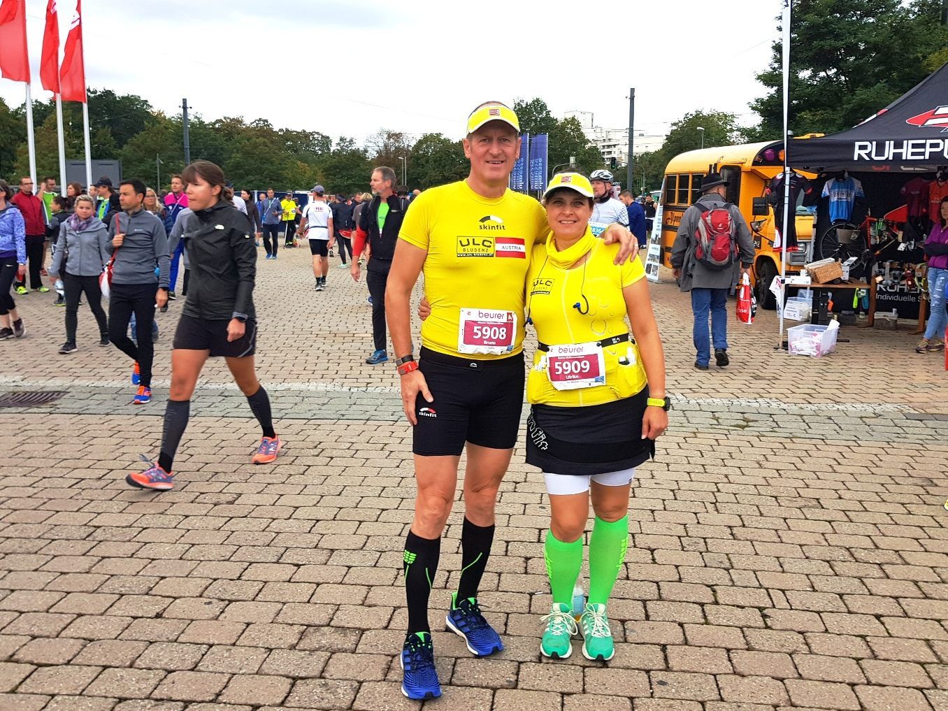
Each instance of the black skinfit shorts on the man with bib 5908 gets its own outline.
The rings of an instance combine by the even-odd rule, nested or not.
[[[418,368],[434,398],[415,401],[418,424],[411,451],[425,457],[457,456],[465,442],[492,449],[517,444],[523,409],[523,354],[468,360],[421,349]]]

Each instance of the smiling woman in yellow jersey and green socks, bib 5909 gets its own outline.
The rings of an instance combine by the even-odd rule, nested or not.
[[[618,246],[593,237],[589,180],[559,173],[543,200],[551,232],[533,248],[526,308],[539,341],[527,380],[527,463],[543,470],[551,515],[553,608],[540,651],[559,659],[573,651],[571,602],[592,499],[589,601],[578,629],[583,655],[609,660],[606,607],[626,556],[629,488],[668,425],[665,354],[642,263],[613,264]]]

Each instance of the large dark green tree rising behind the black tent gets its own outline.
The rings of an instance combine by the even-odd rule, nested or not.
[[[948,61],[940,0],[797,0],[791,35],[793,133],[837,133],[872,116]],[[769,92],[751,103],[752,137],[783,135],[781,43],[757,75]]]

